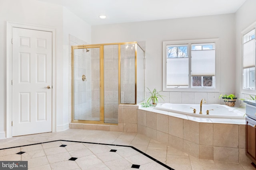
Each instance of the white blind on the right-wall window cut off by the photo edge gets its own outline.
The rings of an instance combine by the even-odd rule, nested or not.
[[[251,68],[255,66],[255,39],[244,43],[243,68]]]

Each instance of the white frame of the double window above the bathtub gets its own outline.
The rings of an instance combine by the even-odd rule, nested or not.
[[[215,86],[214,88],[196,88],[192,87],[191,71],[189,71],[189,86],[188,88],[167,88],[166,87],[166,47],[167,45],[188,45],[188,58],[189,58],[189,70],[191,70],[191,45],[193,44],[206,44],[215,43]],[[163,91],[168,92],[219,92],[220,87],[220,62],[219,62],[219,39],[193,39],[193,40],[178,40],[178,41],[163,41]]]

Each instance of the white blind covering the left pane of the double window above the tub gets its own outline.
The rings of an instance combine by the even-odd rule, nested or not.
[[[166,59],[166,85],[188,86],[188,57]]]

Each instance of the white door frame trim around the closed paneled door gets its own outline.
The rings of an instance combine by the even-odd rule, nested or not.
[[[6,22],[6,138],[12,137],[12,28],[52,32],[52,132],[56,131],[56,29],[41,25]]]

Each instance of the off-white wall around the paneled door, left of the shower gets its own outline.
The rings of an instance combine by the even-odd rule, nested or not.
[[[66,8],[37,0],[0,1],[0,139],[6,136],[6,22],[42,25],[56,29],[56,125],[68,128],[68,35],[90,43],[91,26]],[[68,24],[69,23],[69,24]],[[76,25],[76,27],[74,27]]]

